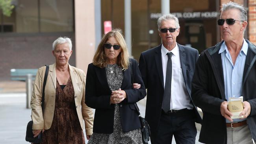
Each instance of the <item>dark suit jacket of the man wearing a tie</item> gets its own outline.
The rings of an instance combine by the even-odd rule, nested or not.
[[[180,62],[182,74],[186,84],[189,97],[191,94],[191,80],[195,70],[195,63],[198,59],[198,50],[178,44],[180,49]],[[147,105],[145,118],[150,125],[152,137],[157,137],[158,124],[161,116],[163,101],[163,68],[161,59],[161,45],[141,53],[139,58],[139,69],[147,89]],[[191,97],[190,97],[191,98]],[[192,101],[192,100],[191,100]],[[193,102],[192,102],[193,103]],[[201,122],[201,117],[195,110],[195,120]]]

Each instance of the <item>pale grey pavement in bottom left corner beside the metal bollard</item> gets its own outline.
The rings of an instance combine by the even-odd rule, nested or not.
[[[26,94],[0,94],[0,144],[28,144],[25,135],[30,115]]]

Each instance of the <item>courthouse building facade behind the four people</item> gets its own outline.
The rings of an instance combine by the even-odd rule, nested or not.
[[[229,1],[170,0],[170,13],[180,21],[177,42],[199,52],[220,42],[219,10]],[[245,38],[256,44],[256,0],[232,1],[248,8]],[[157,26],[161,0],[130,3],[131,49],[138,60],[141,52],[161,44]],[[10,17],[0,10],[0,80],[9,80],[12,68],[39,68],[53,63],[52,42],[59,36],[72,39],[69,63],[86,72],[104,34],[104,21],[125,31],[125,0],[13,0],[12,4],[15,8]]]

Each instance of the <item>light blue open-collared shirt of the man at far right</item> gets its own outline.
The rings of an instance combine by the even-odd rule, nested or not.
[[[238,98],[242,94],[242,85],[243,85],[243,69],[245,67],[245,59],[248,50],[248,43],[243,39],[243,46],[240,53],[237,55],[235,65],[233,65],[231,55],[228,51],[228,48],[223,42],[219,54],[221,54],[221,61],[224,74],[224,85],[225,85],[225,96],[228,101],[231,97]],[[243,119],[245,120],[245,119]],[[234,122],[243,121],[240,119],[234,119]],[[227,123],[230,123],[226,119]]]

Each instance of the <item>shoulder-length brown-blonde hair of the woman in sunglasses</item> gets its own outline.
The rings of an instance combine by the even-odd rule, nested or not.
[[[122,36],[121,29],[113,29],[104,35],[93,57],[93,65],[100,68],[104,68],[108,65],[108,57],[104,53],[104,44],[108,41],[109,37],[115,37],[121,48],[121,52],[117,56],[117,65],[121,66],[123,69],[128,69],[129,53],[124,41],[124,37]]]

